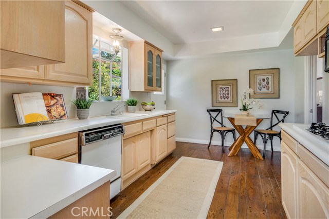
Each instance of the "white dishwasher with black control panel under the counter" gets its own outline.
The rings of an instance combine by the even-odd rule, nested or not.
[[[79,163],[116,171],[111,178],[110,198],[121,191],[121,143],[123,125],[105,126],[79,132]]]

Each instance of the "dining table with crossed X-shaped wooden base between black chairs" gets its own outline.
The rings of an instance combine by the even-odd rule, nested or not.
[[[237,154],[237,152],[239,152],[241,146],[243,145],[243,143],[245,142],[246,145],[248,146],[249,150],[251,151],[252,155],[255,158],[258,158],[260,160],[264,160],[263,156],[261,155],[260,151],[258,150],[258,148],[256,147],[256,145],[253,143],[253,141],[251,140],[251,138],[249,137],[249,135],[251,134],[251,132],[253,130],[255,130],[255,128],[264,120],[267,118],[270,118],[270,115],[266,115],[266,114],[253,114],[253,116],[256,117],[256,126],[249,126],[246,125],[245,127],[243,127],[242,125],[235,125],[235,114],[224,114],[223,117],[226,117],[228,119],[228,121],[230,121],[230,123],[233,125],[233,127],[235,128],[235,130],[237,132],[239,132],[240,136],[238,138],[236,138],[235,142],[231,145],[231,147],[229,148],[229,154],[228,156],[235,156]]]

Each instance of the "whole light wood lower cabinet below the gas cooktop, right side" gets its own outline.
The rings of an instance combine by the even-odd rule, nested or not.
[[[281,192],[287,218],[329,218],[329,167],[302,145],[297,149],[298,141],[283,134]]]

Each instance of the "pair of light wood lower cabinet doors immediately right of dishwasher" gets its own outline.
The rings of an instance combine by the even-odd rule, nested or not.
[[[126,138],[122,145],[122,180],[151,163],[151,131]]]

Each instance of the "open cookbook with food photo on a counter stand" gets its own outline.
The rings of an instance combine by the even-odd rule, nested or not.
[[[62,94],[13,93],[12,97],[20,125],[68,119]]]

